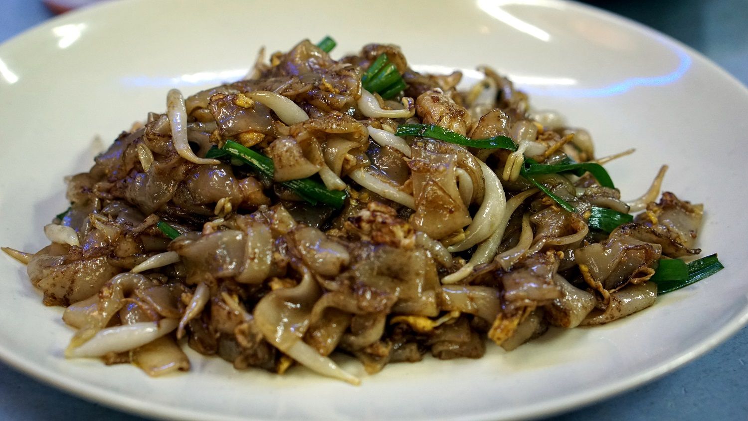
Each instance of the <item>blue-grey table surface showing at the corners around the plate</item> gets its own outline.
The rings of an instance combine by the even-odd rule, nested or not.
[[[748,84],[748,1],[589,1],[686,43]],[[0,0],[0,43],[52,17],[39,0]],[[548,420],[746,420],[748,328],[650,384]],[[0,363],[0,420],[142,420],[70,396]]]

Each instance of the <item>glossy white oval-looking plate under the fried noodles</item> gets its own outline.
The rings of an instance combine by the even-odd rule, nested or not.
[[[361,387],[292,369],[238,372],[190,353],[188,374],[147,378],[132,366],[64,360],[71,331],[45,308],[24,268],[0,256],[0,356],[87,399],[180,419],[460,419],[551,414],[663,375],[748,319],[744,174],[748,91],[705,58],[640,25],[562,1],[116,1],[53,19],[0,46],[0,245],[36,251],[67,207],[62,177],[165,108],[165,93],[238,79],[260,46],[286,50],[331,34],[335,55],[397,43],[411,64],[497,67],[592,132],[624,197],[657,168],[665,188],[706,203],[700,236],[726,269],[599,328],[554,330],[480,360],[393,364]],[[346,368],[363,373],[355,363]]]

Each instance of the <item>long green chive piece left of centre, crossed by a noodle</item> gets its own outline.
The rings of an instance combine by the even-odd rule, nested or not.
[[[226,141],[226,144],[220,149],[213,147],[206,154],[208,158],[218,158],[221,156],[231,156],[232,158],[239,159],[239,161],[249,165],[269,179],[272,179],[273,173],[275,173],[275,165],[273,165],[272,159],[235,141]],[[290,188],[302,199],[313,205],[325,203],[326,205],[340,209],[346,201],[345,191],[328,190],[325,188],[325,185],[313,179],[292,179],[281,182],[281,184]]]

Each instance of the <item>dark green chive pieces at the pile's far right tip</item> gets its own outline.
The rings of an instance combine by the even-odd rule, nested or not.
[[[661,259],[657,271],[649,280],[657,283],[657,295],[681,289],[710,277],[725,268],[717,254],[702,257],[686,264],[678,259]]]

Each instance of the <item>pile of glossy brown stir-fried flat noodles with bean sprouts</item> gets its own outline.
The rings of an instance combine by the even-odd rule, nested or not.
[[[383,54],[405,82],[390,99],[361,81]],[[699,253],[702,206],[656,201],[665,168],[631,201],[589,173],[533,184],[528,159],[617,156],[595,160],[587,132],[482,71],[460,91],[461,73],[417,73],[396,46],[339,61],[309,41],[269,63],[261,53],[244,80],[186,99],[169,91],[164,114],[68,179],[71,208],[44,227],[51,245],[6,251],[28,263],[44,304],[67,307],[67,357],[149,375],[188,369],[189,346],[237,369],[298,364],[358,384],[331,353],[370,373],[426,354],[477,358],[486,342],[509,351],[551,325],[652,305],[657,262]],[[506,136],[516,150],[396,135],[420,123]],[[206,158],[227,141],[272,159],[272,176]],[[299,179],[344,194],[343,206],[310,203]],[[589,226],[593,206],[641,213],[607,233]]]

